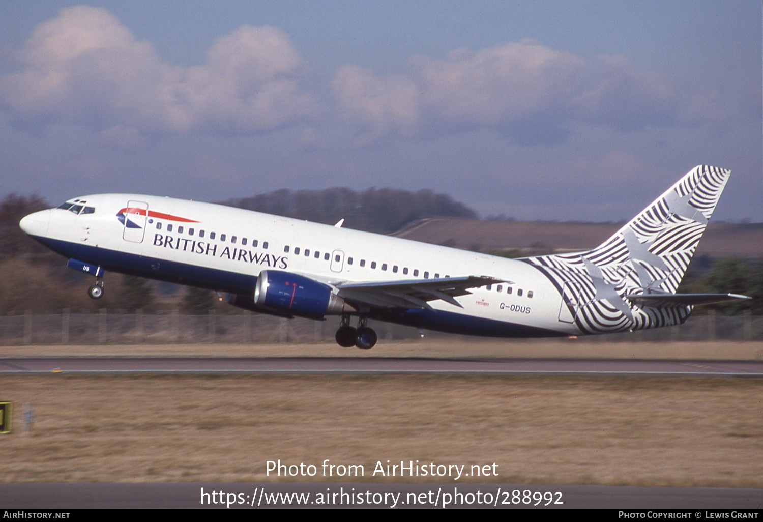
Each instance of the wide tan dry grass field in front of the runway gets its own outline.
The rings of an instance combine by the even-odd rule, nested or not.
[[[0,378],[0,400],[17,404],[0,482],[272,480],[268,459],[381,482],[377,460],[418,459],[497,462],[498,482],[763,487],[761,379],[48,375]]]

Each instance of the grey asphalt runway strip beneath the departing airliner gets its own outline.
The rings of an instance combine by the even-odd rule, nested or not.
[[[763,361],[639,359],[417,359],[345,357],[0,359],[0,375],[293,374],[293,375],[641,375],[763,377]]]

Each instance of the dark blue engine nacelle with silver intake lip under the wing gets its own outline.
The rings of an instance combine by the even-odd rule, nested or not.
[[[291,272],[262,270],[254,288],[259,311],[282,316],[323,319],[357,311],[329,285]]]

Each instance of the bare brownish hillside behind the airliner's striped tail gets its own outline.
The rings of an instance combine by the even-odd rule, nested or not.
[[[623,224],[555,223],[549,221],[478,221],[424,219],[394,236],[482,252],[519,250],[523,255],[589,250],[620,230]],[[713,259],[763,257],[763,223],[709,224],[697,256]]]

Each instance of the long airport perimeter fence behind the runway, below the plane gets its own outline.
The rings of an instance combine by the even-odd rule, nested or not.
[[[8,314],[0,316],[0,345],[50,344],[172,344],[172,343],[327,343],[333,342],[338,317],[327,321],[284,319],[261,314],[184,315],[95,313]],[[413,340],[419,330],[375,323],[379,339]],[[446,333],[424,330],[427,337]],[[763,317],[697,315],[681,326],[594,336],[606,342],[763,340]]]

